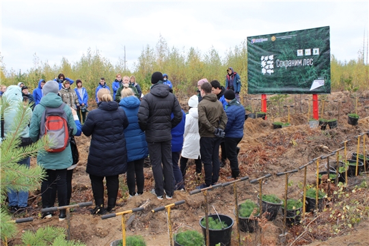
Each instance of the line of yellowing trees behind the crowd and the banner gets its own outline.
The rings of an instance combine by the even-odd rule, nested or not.
[[[128,51],[129,52],[129,51]],[[359,90],[368,89],[369,65],[364,60],[364,51],[357,52],[357,59],[350,61],[338,61],[331,54],[331,90]],[[221,56],[215,47],[211,47],[205,53],[191,47],[188,50],[170,48],[167,41],[161,36],[155,47],[146,46],[130,69],[126,68],[124,59],[120,57],[117,64],[112,64],[109,59],[102,57],[100,51],[87,52],[74,64],[67,57],[61,59],[59,65],[51,66],[48,61],[40,61],[36,53],[33,55],[33,67],[27,72],[6,70],[3,57],[0,57],[0,79],[2,85],[12,85],[23,82],[32,89],[38,86],[38,81],[54,79],[57,74],[63,73],[66,77],[81,79],[83,86],[93,98],[100,77],[105,77],[109,86],[115,79],[115,74],[135,75],[137,83],[141,85],[143,93],[150,89],[152,72],[161,71],[168,74],[169,80],[174,85],[174,93],[177,96],[189,96],[195,94],[197,81],[202,78],[208,81],[217,79],[225,85],[226,70],[232,66],[234,71],[241,76],[243,87],[242,94],[247,94],[247,45],[246,40],[241,44],[230,48]],[[72,85],[74,87],[75,85]]]

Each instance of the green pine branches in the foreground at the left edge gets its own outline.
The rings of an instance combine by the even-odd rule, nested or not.
[[[0,98],[1,120],[6,121],[4,114],[7,115],[11,110],[14,110],[14,101],[2,96]],[[16,224],[11,222],[11,217],[3,206],[7,192],[10,189],[13,191],[33,191],[40,187],[40,181],[44,177],[44,171],[39,166],[27,168],[25,165],[18,165],[18,161],[27,156],[36,156],[39,151],[44,150],[44,146],[48,146],[46,139],[42,139],[30,146],[19,147],[21,132],[31,119],[30,111],[29,105],[24,105],[23,102],[16,105],[16,115],[12,120],[10,130],[5,133],[5,139],[1,141],[0,235],[2,241],[16,234]]]

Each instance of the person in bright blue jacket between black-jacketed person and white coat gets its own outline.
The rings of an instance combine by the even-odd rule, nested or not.
[[[171,118],[174,118],[172,113]],[[174,174],[174,191],[184,191],[183,175],[178,167],[178,161],[180,158],[180,152],[182,152],[183,147],[183,134],[184,134],[184,124],[186,122],[186,113],[182,109],[182,120],[180,123],[172,128],[172,164],[173,164],[173,174]]]

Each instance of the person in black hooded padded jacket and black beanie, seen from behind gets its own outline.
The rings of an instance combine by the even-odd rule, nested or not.
[[[174,176],[172,168],[172,134],[171,130],[182,120],[182,109],[169,86],[163,84],[163,74],[154,72],[151,77],[152,86],[139,106],[139,127],[146,131],[146,141],[155,189],[152,193],[163,200],[164,189],[168,200],[174,194]],[[174,115],[171,118],[171,115]],[[162,166],[163,163],[163,166]],[[163,180],[164,179],[164,180]]]

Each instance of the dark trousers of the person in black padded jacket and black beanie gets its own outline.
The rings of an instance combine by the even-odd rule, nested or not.
[[[148,150],[156,195],[163,195],[165,189],[167,195],[172,196],[174,193],[172,141],[148,142]]]

